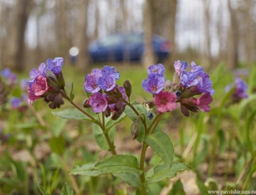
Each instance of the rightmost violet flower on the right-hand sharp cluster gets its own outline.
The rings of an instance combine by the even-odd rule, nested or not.
[[[203,72],[198,78],[196,91],[198,93],[209,92],[211,96],[214,95],[215,91],[212,88],[212,82],[209,78],[209,74],[206,72]]]

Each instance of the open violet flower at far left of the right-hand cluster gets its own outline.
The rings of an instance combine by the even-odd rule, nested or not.
[[[165,87],[165,79],[159,74],[148,74],[148,79],[143,80],[142,87],[148,93],[157,94]]]

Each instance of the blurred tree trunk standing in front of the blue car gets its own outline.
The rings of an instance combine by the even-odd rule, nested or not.
[[[152,47],[152,20],[151,20],[152,2],[146,0],[144,9],[144,42],[145,42],[145,56],[143,57],[143,66],[148,68],[154,64],[154,52]]]

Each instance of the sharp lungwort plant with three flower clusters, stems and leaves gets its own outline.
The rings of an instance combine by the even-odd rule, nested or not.
[[[162,64],[149,66],[148,77],[142,81],[142,87],[152,94],[152,99],[142,104],[131,101],[132,85],[129,80],[124,80],[122,86],[116,84],[120,74],[114,67],[92,69],[91,73],[86,75],[83,85],[88,99],[79,106],[73,102],[73,88],[67,93],[64,75],[61,72],[63,61],[63,58],[48,59],[47,65],[42,63],[39,69],[31,70],[31,80],[27,86],[28,102],[32,104],[42,98],[51,109],[61,107],[64,101],[69,102],[74,108],[52,112],[53,115],[93,123],[97,145],[112,154],[102,161],[81,164],[69,170],[70,183],[76,194],[81,194],[82,191],[73,175],[96,177],[112,174],[133,186],[137,194],[147,194],[149,184],[175,177],[177,172],[189,169],[186,164],[173,161],[173,144],[167,134],[161,131],[159,122],[165,112],[171,112],[178,106],[186,117],[189,116],[189,111],[211,110],[209,104],[213,100],[214,90],[208,74],[203,72],[201,66],[192,62],[192,69],[187,72],[189,65],[176,61],[172,82],[165,79],[165,67]],[[142,145],[139,159],[132,155],[116,153],[113,142],[116,124],[121,123],[126,116],[133,122],[130,127],[132,139],[136,139]],[[162,159],[162,163],[157,164],[151,172],[146,172],[145,167],[148,147]],[[50,148],[62,156],[64,139],[59,136],[53,137],[50,139]],[[42,187],[40,190],[47,194]]]

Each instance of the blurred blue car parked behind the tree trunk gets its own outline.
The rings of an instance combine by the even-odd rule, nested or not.
[[[152,46],[158,63],[165,60],[170,53],[170,42],[157,35],[152,37]],[[142,61],[144,53],[144,39],[141,33],[110,34],[89,45],[92,62]]]

